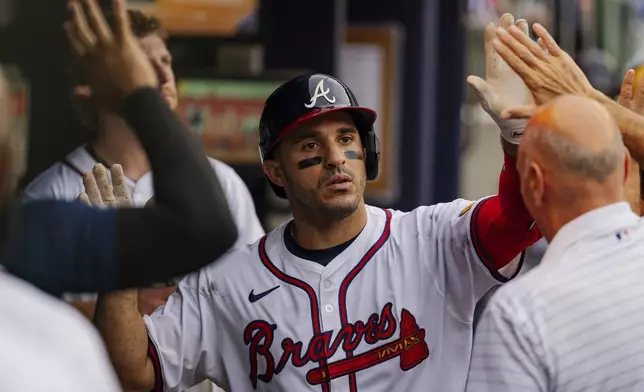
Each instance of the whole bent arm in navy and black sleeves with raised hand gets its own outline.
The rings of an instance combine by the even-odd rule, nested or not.
[[[95,0],[71,5],[70,42],[95,98],[119,107],[145,148],[156,202],[119,210],[26,204],[17,209],[3,264],[56,293],[145,286],[196,270],[237,238],[216,173],[161,97],[154,70],[130,31],[125,1],[114,1],[114,32]]]

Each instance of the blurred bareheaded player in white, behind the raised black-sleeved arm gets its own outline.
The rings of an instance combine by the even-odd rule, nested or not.
[[[113,26],[113,15],[107,12],[106,17],[108,23]],[[172,70],[172,56],[164,41],[166,33],[156,18],[148,17],[140,11],[129,10],[128,17],[132,32],[156,71],[163,98],[174,110],[177,107],[178,94]],[[74,72],[75,79],[79,82],[73,90],[80,109],[79,114],[91,127],[92,140],[89,144],[76,148],[34,179],[24,191],[25,201],[75,200],[83,192],[83,176],[91,172],[96,164],[102,163],[105,167],[110,167],[118,163],[123,167],[134,206],[143,207],[154,196],[154,187],[150,162],[137,135],[132,132],[120,113],[93,99],[91,88],[80,83],[84,79],[80,70],[74,68]],[[209,158],[209,162],[217,172],[228,206],[237,223],[237,245],[255,242],[264,234],[264,230],[255,213],[248,188],[230,166],[212,158]],[[174,284],[168,283],[165,286],[140,290],[141,313],[150,314],[165,303],[174,290]],[[93,316],[96,303],[94,294],[65,297],[89,318]]]

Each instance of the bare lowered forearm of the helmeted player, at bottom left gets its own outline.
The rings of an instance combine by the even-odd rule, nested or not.
[[[138,311],[137,291],[100,295],[94,324],[101,333],[121,384],[127,390],[154,388],[154,368],[148,358],[148,334]]]

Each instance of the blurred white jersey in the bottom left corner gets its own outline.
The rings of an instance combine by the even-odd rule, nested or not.
[[[0,271],[0,391],[117,392],[103,342],[78,312]]]

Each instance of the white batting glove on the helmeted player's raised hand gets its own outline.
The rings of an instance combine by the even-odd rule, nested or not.
[[[501,17],[501,27],[508,29],[515,24],[512,14]],[[524,19],[516,21],[516,26],[529,35],[528,22]],[[501,113],[516,106],[534,105],[534,99],[523,80],[498,55],[492,47],[495,39],[496,25],[490,23],[485,28],[485,80],[470,75],[467,83],[476,91],[481,107],[496,122],[501,135],[509,143],[519,144],[527,119],[502,119]]]

